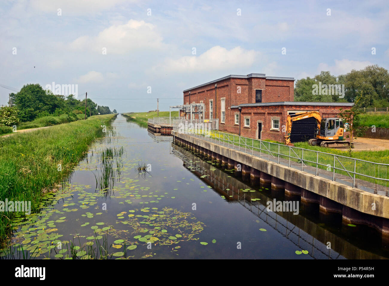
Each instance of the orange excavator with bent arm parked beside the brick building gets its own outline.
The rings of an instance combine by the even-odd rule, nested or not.
[[[293,117],[288,114],[287,123],[286,123],[286,133],[285,144],[293,146],[291,143],[291,131],[293,122],[305,119],[305,118],[315,118],[317,123],[316,128],[316,137],[309,139],[308,144],[312,146],[322,146],[328,148],[349,148],[350,142],[343,140],[344,125],[343,121],[340,118],[321,118],[319,112],[317,111],[308,111],[308,112],[299,112],[293,115]],[[351,145],[351,147],[353,147]]]

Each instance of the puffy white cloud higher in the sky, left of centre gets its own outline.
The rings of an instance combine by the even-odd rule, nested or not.
[[[112,25],[96,37],[82,36],[75,39],[71,49],[93,49],[103,54],[125,54],[134,50],[162,48],[162,37],[154,31],[154,25],[131,19],[123,25]]]

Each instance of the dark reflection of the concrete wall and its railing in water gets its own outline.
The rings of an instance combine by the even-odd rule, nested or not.
[[[211,186],[220,195],[225,196],[229,202],[236,202],[244,206],[248,211],[255,214],[259,219],[267,225],[277,230],[282,236],[293,242],[298,249],[308,250],[308,255],[315,259],[384,259],[385,257],[369,251],[361,249],[359,246],[351,244],[347,238],[340,237],[336,233],[318,225],[314,221],[293,212],[269,212],[266,207],[266,202],[272,201],[273,198],[279,199],[280,188],[272,184],[271,179],[265,182],[265,186],[269,191],[243,192],[241,189],[251,188],[253,185],[259,186],[259,177],[248,176],[248,184],[240,181],[236,177],[230,176],[225,172],[209,163],[198,160],[200,157],[189,152],[189,147],[183,142],[178,142],[173,149],[173,155],[183,161],[184,167],[196,174],[202,181]],[[211,159],[210,155],[206,153]],[[228,169],[232,171],[234,166],[228,165]],[[226,166],[224,166],[226,167]],[[242,172],[233,171],[235,176],[239,176]],[[257,173],[258,174],[258,173]],[[242,177],[243,179],[243,177]],[[271,196],[269,196],[269,193]],[[230,197],[232,196],[232,197]],[[293,197],[294,196],[294,197]],[[252,201],[252,198],[260,198],[259,201]],[[288,200],[296,199],[296,195],[289,195],[285,192],[285,198]],[[331,242],[331,248],[327,248],[328,242]]]

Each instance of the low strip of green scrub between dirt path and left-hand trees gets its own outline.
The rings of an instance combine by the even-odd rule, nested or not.
[[[37,118],[33,121],[21,122],[16,126],[16,128],[18,130],[22,130],[29,128],[54,126],[62,123],[77,121],[80,119],[84,119],[84,114],[75,114],[74,116],[68,116],[67,114],[61,114],[60,116],[44,116],[41,118]],[[12,127],[0,126],[0,135],[5,135],[8,133],[12,133]]]

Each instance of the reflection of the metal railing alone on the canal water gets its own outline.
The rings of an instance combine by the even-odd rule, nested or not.
[[[237,196],[237,202],[239,204],[243,205],[246,209],[263,220],[267,225],[271,226],[282,236],[293,242],[293,244],[298,247],[296,250],[308,250],[308,254],[315,259],[344,259],[340,253],[337,253],[332,249],[327,249],[327,246],[324,243],[316,240],[312,235],[289,222],[279,214],[275,212],[268,212],[266,206],[260,204],[259,202],[252,202],[251,196],[241,192],[241,188],[237,188],[229,182],[233,181],[234,178],[230,177],[230,180],[228,181],[224,179],[220,180],[220,178],[212,172],[212,170],[196,163],[196,160],[191,160],[191,158],[188,158],[177,149],[173,150],[173,155],[180,158],[186,165],[186,168],[191,171],[198,172],[200,174],[200,178],[204,179],[206,177],[207,181],[212,182],[215,188],[221,189],[229,195],[235,195],[234,197]],[[243,184],[242,182],[239,183]],[[251,188],[247,185],[246,187]]]

